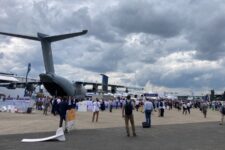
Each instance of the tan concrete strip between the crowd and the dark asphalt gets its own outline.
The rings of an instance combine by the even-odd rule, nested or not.
[[[134,111],[136,125],[144,121],[144,113]],[[35,110],[32,114],[18,114],[0,112],[0,135],[56,131],[59,124],[59,116],[44,116],[42,111]],[[92,112],[76,112],[74,129],[99,129],[124,127],[121,109],[114,109],[112,113],[104,111],[99,113],[98,123],[92,123]],[[176,109],[166,110],[165,117],[158,117],[158,112],[152,114],[152,125],[185,124],[199,122],[215,122],[220,120],[218,111],[208,111],[207,118],[199,109],[192,109],[191,114],[183,115]]]

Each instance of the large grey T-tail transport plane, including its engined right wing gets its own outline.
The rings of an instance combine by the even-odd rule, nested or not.
[[[88,32],[87,30],[83,30],[77,33],[55,35],[55,36],[49,36],[42,33],[37,33],[37,37],[5,33],[5,32],[0,32],[0,34],[41,42],[46,73],[42,73],[39,75],[40,82],[44,85],[45,89],[52,96],[75,96],[77,98],[84,98],[86,94],[86,89],[84,88],[85,85],[92,85],[93,88],[91,92],[94,92],[94,93],[98,92],[98,86],[102,86],[102,92],[106,92],[106,93],[109,92],[108,86],[111,87],[111,91],[110,91],[111,93],[116,93],[117,88],[125,88],[126,92],[128,92],[128,89],[135,89],[133,87],[108,84],[108,77],[104,74],[101,74],[102,83],[79,82],[79,81],[72,83],[69,80],[55,74],[51,43],[64,40],[67,38],[72,38],[75,36],[81,36],[86,34],[87,32]],[[136,89],[143,90],[143,88],[136,88]]]

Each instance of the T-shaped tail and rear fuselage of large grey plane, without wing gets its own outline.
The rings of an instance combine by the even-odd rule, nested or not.
[[[77,33],[55,35],[55,36],[49,36],[46,34],[37,33],[37,37],[34,37],[34,36],[0,32],[0,34],[3,34],[3,35],[40,41],[42,46],[42,54],[43,54],[43,60],[45,65],[45,71],[46,71],[46,73],[42,73],[39,75],[40,81],[43,83],[46,90],[52,96],[77,96],[77,97],[85,96],[85,88],[81,84],[73,84],[69,80],[55,74],[51,43],[64,40],[67,38],[72,38],[75,36],[81,36],[86,33],[87,33],[87,30],[83,30]]]

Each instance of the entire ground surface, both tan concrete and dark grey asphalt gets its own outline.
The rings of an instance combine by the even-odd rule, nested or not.
[[[126,137],[121,110],[100,112],[99,122],[92,123],[91,112],[77,112],[74,129],[65,142],[21,143],[23,138],[42,138],[55,134],[58,116],[0,113],[0,149],[18,150],[113,150],[113,149],[225,149],[225,125],[220,126],[220,113],[208,111],[207,118],[198,109],[183,115],[167,110],[165,117],[152,115],[152,128],[143,129],[144,114],[134,112],[137,137]]]

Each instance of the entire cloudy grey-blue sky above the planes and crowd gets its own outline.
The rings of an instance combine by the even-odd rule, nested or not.
[[[225,90],[224,0],[0,0],[0,32],[88,30],[52,44],[56,74],[74,81],[190,94]],[[45,72],[41,45],[0,35],[0,72]]]

